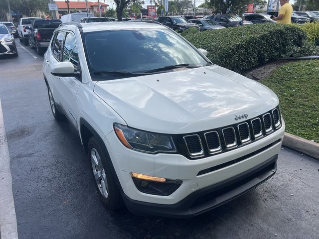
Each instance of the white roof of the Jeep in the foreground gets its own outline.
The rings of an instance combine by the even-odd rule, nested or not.
[[[131,30],[131,29],[167,29],[159,22],[151,21],[108,21],[108,22],[90,22],[90,23],[79,23],[82,25],[83,32],[94,32],[104,30]],[[76,30],[76,24],[64,23],[58,27],[58,29],[70,29]]]

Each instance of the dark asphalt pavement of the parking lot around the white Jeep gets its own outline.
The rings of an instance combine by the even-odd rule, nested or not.
[[[79,136],[51,115],[43,57],[18,52],[0,57],[0,99],[20,239],[319,238],[319,161],[288,148],[273,178],[199,217],[108,212]]]

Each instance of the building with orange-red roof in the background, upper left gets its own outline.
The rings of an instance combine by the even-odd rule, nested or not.
[[[65,15],[68,14],[68,7],[67,3],[65,1],[55,1],[55,3],[58,5],[58,12],[59,15]],[[108,9],[108,4],[100,2],[101,6],[101,13],[105,13]],[[88,1],[88,8],[89,12],[91,12],[93,15],[99,15],[99,4],[97,1]],[[70,12],[76,9],[78,12],[86,12],[86,3],[85,1],[69,1],[69,10]]]

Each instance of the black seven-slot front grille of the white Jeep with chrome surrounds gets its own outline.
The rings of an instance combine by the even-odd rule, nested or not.
[[[273,126],[274,125],[274,126]],[[279,108],[237,124],[209,131],[181,135],[183,143],[178,151],[190,158],[205,157],[241,147],[277,130],[282,125]],[[203,143],[202,143],[203,140]]]

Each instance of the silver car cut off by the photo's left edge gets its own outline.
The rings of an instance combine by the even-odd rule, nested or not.
[[[0,23],[0,55],[18,56],[14,37],[3,23]]]

